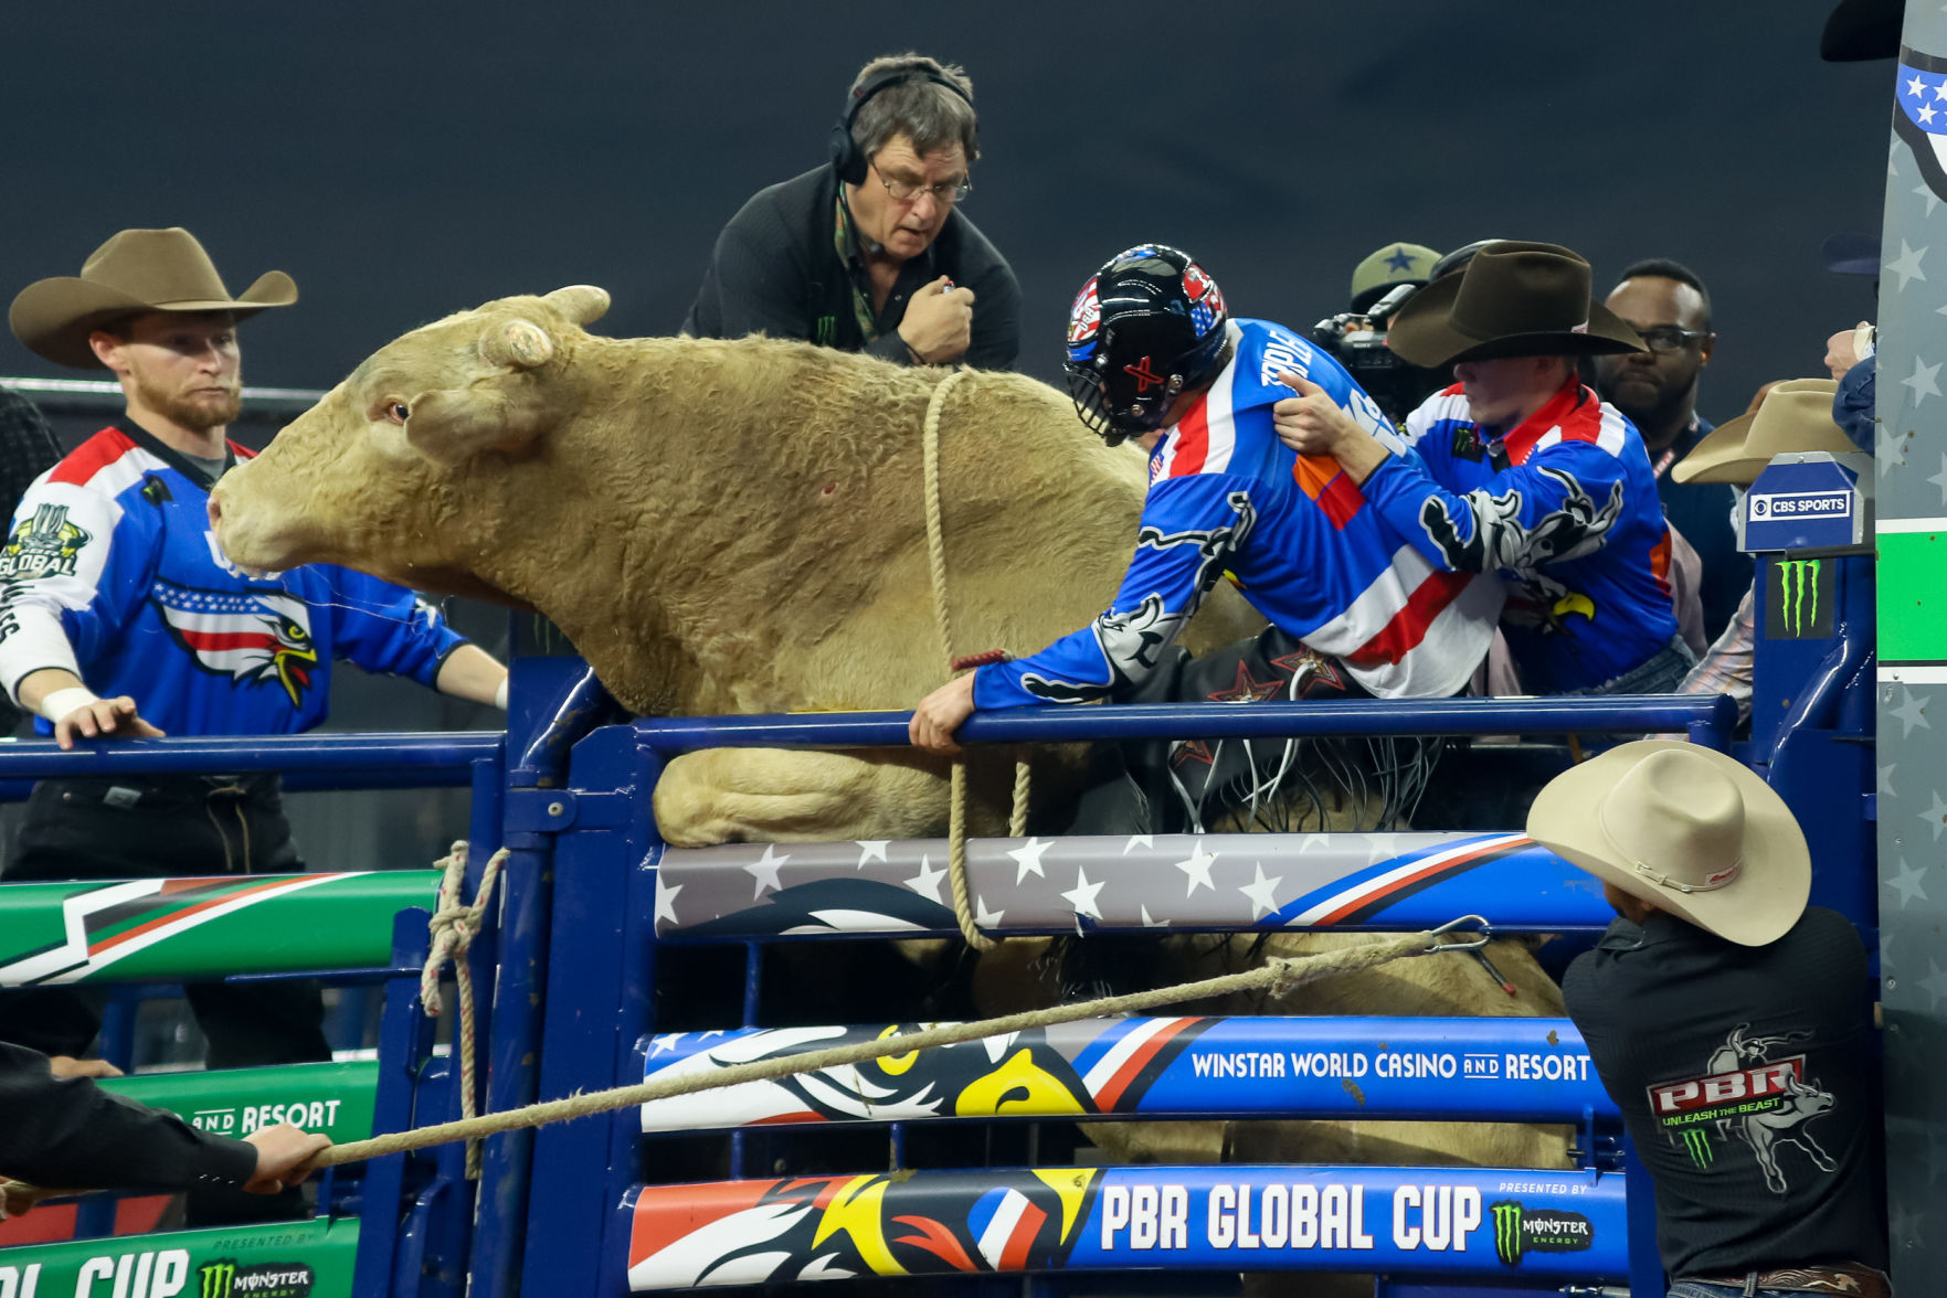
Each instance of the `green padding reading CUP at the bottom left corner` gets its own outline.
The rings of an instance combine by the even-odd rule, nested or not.
[[[0,1249],[25,1298],[350,1298],[358,1218],[29,1244]]]

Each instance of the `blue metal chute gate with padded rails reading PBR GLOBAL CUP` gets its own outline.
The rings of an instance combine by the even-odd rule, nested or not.
[[[524,664],[526,666],[526,664]],[[565,664],[549,664],[561,671]],[[569,677],[561,677],[567,681]],[[974,743],[1116,738],[1285,738],[1324,734],[1676,732],[1727,747],[1735,708],[1723,699],[1548,699],[1347,704],[1256,704],[1024,710],[975,716]],[[820,930],[765,917],[781,893],[822,878],[896,883],[940,843],[748,845],[676,850],[654,837],[648,790],[662,763],[707,747],[874,747],[905,739],[905,714],[777,718],[656,718],[604,726],[574,747],[569,786],[510,798],[510,829],[559,827],[555,837],[547,987],[541,1004],[541,1096],[602,1090],[664,1068],[709,1068],[767,1053],[876,1037],[892,1024],[759,1029],[759,952],[771,942],[952,934],[950,911],[905,911],[884,924],[853,917]],[[1252,835],[1267,862],[1299,860],[1304,843],[1345,854],[1320,866],[1308,893],[1271,893],[1256,917],[1172,911],[1178,930],[1314,926],[1318,905],[1345,926],[1417,930],[1466,911],[1519,911],[1511,930],[1591,930],[1606,922],[1593,883],[1519,835]],[[1340,839],[1340,843],[1330,843]],[[512,837],[510,837],[512,841]],[[1157,852],[1190,850],[1164,837]],[[1221,845],[1219,845],[1221,847]],[[1009,852],[1102,854],[1088,841],[975,841],[970,882],[983,870],[1016,876]],[[1203,843],[1195,850],[1209,850]],[[847,856],[849,852],[849,856]],[[1079,854],[1079,856],[1077,856]],[[870,856],[866,860],[864,856]],[[1355,860],[1353,860],[1355,856]],[[1102,858],[1108,866],[1114,850]],[[1447,862],[1456,862],[1447,868]],[[755,866],[755,870],[752,870]],[[1086,866],[1083,866],[1086,868]],[[1283,870],[1283,864],[1277,866]],[[1310,862],[1306,860],[1306,868]],[[1046,870],[1044,876],[1057,874]],[[921,874],[931,885],[931,876]],[[1410,887],[1375,880],[1414,880]],[[755,880],[755,887],[753,887]],[[1061,880],[1065,887],[1069,880]],[[713,901],[713,887],[742,903]],[[752,897],[752,889],[757,897]],[[915,889],[907,889],[911,897]],[[925,889],[919,889],[925,891]],[[1306,905],[1306,897],[1318,905]],[[1544,901],[1536,903],[1534,897]],[[995,893],[987,893],[993,903]],[[1519,905],[1503,899],[1519,899]],[[755,905],[753,905],[755,903]],[[1010,903],[1012,905],[1012,903]],[[1042,905],[1038,911],[1036,905]],[[1040,897],[993,932],[1141,928],[1112,911],[1084,915]],[[1005,907],[1001,907],[1005,911]],[[1275,911],[1275,919],[1271,915]],[[728,944],[746,952],[744,1024],[666,1031],[656,1022],[658,952]],[[512,955],[512,950],[510,950]],[[1622,1282],[1632,1242],[1643,1251],[1647,1210],[1626,1207],[1639,1187],[1620,1175],[1620,1129],[1579,1037],[1565,1020],[1116,1020],[1049,1028],[1003,1051],[933,1051],[960,1063],[925,1064],[927,1094],[886,1103],[851,1076],[757,1084],[547,1127],[533,1135],[524,1218],[481,1232],[524,1240],[522,1282],[475,1273],[479,1292],[623,1294],[841,1275],[938,1275],[1018,1284],[1009,1273],[1100,1269],[1382,1271],[1458,1282],[1554,1290],[1563,1282]],[[1120,1051],[1120,1055],[1118,1055]],[[995,1059],[1001,1055],[1001,1059]],[[1026,1059],[1032,1057],[1032,1059]],[[1114,1057],[1114,1061],[1112,1061]],[[903,1059],[903,1057],[901,1057]],[[1034,1084],[991,1074],[1026,1059]],[[1110,1064],[1104,1068],[1104,1061]],[[1120,1063],[1116,1063],[1120,1061]],[[1133,1068],[1121,1064],[1135,1064]],[[921,1064],[911,1064],[915,1070]],[[1277,1068],[1285,1074],[1277,1076]],[[1201,1068],[1201,1074],[1199,1074]],[[1299,1070],[1304,1070],[1301,1082]],[[1215,1074],[1223,1074],[1219,1080]],[[1238,1076],[1240,1072],[1248,1076]],[[1141,1078],[1131,1084],[1131,1078]],[[1472,1088],[1472,1092],[1468,1090]],[[995,1094],[1028,1096],[1009,1105]],[[874,1111],[874,1103],[882,1105]],[[851,1105],[851,1107],[847,1107]],[[1583,1129],[1581,1172],[1478,1168],[983,1168],[977,1173],[900,1164],[907,1129],[929,1121],[1003,1123],[1141,1117],[1415,1117],[1556,1121]],[[790,1175],[789,1131],[878,1123],[892,1172]],[[730,1131],[730,1179],[658,1185],[658,1140],[644,1131]],[[596,1173],[600,1170],[600,1173]],[[666,1179],[666,1177],[662,1177]],[[493,1187],[483,1187],[493,1193]],[[1632,1230],[1634,1222],[1634,1230]],[[1266,1232],[1269,1226],[1269,1232]],[[1431,1226],[1431,1232],[1429,1232]],[[1632,1236],[1635,1236],[1632,1240]],[[1267,1244],[1269,1240],[1269,1244]],[[1525,1244],[1526,1242],[1526,1244]],[[1649,1247],[1653,1261],[1653,1245]],[[999,1290],[995,1290],[999,1292]],[[1402,1286],[1394,1292],[1410,1292]]]

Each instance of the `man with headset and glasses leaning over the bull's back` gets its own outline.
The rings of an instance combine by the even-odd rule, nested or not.
[[[683,333],[1010,368],[1020,284],[960,210],[975,158],[974,82],[962,68],[925,54],[874,58],[845,95],[831,162],[757,191],[716,235]]]

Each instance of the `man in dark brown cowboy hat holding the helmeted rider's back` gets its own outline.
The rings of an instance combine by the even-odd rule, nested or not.
[[[1509,584],[1501,631],[1532,693],[1659,693],[1694,654],[1678,636],[1669,533],[1641,436],[1581,385],[1579,356],[1641,350],[1591,296],[1589,263],[1499,239],[1392,317],[1388,344],[1458,383],[1406,422],[1392,455],[1301,374],[1277,436],[1330,455],[1392,529],[1454,572]]]

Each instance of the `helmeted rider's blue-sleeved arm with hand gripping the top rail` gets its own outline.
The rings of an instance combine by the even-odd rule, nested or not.
[[[954,753],[952,732],[975,708],[1094,703],[1147,679],[1256,518],[1242,479],[1192,475],[1157,483],[1143,504],[1135,557],[1108,611],[1040,654],[989,664],[933,691],[913,712],[911,741]]]

